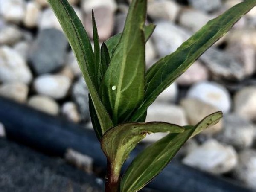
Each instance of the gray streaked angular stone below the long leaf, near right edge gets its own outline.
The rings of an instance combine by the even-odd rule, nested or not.
[[[243,64],[227,52],[210,48],[201,56],[201,60],[215,79],[241,80],[245,77]]]

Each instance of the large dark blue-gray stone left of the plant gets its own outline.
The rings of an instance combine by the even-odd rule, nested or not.
[[[62,67],[67,45],[67,39],[61,31],[56,29],[40,31],[29,54],[29,61],[35,73],[51,73]]]

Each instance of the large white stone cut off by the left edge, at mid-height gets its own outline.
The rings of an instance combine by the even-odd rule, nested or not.
[[[25,59],[10,47],[0,47],[0,81],[19,81],[29,84],[32,73]]]

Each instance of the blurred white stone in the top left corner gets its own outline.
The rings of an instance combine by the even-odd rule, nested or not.
[[[20,23],[25,15],[24,0],[0,0],[0,15],[6,21]]]

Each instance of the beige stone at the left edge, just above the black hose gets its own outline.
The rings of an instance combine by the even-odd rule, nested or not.
[[[27,100],[29,87],[21,82],[11,82],[0,86],[0,96],[13,99],[16,102],[25,103]]]

